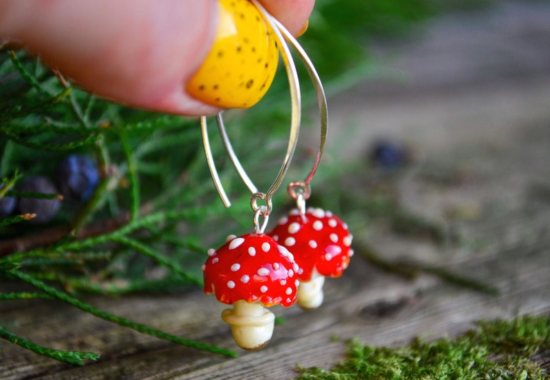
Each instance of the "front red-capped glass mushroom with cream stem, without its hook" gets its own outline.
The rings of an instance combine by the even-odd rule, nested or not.
[[[209,250],[203,266],[204,293],[233,305],[222,312],[243,349],[264,347],[272,338],[275,316],[263,306],[296,302],[299,266],[292,253],[265,234],[228,236],[218,250]]]

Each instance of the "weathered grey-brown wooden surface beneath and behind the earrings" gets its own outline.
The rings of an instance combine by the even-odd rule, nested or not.
[[[144,336],[58,302],[0,302],[0,321],[18,334],[58,349],[102,354],[100,361],[76,368],[2,341],[0,377],[288,379],[296,376],[296,364],[328,367],[344,359],[348,338],[400,345],[415,336],[454,336],[475,320],[550,313],[548,10],[540,3],[505,3],[468,27],[451,19],[454,30],[448,31],[441,21],[414,49],[406,46],[396,62],[419,83],[383,88],[367,83],[330,103],[336,130],[328,158],[357,159],[377,135],[409,141],[416,163],[400,180],[400,200],[461,236],[459,243],[435,245],[362,223],[351,213],[357,240],[369,241],[385,259],[443,266],[495,286],[499,295],[432,275],[405,279],[384,273],[356,254],[343,277],[327,280],[321,309],[275,308],[286,322],[276,326],[272,342],[260,352],[239,350],[237,359]],[[522,17],[529,22],[517,21]],[[461,39],[461,33],[476,38]],[[415,64],[416,57],[425,62]],[[425,67],[430,57],[432,70]],[[454,67],[441,66],[441,60]],[[435,73],[449,80],[425,85]],[[359,132],[351,133],[355,125]],[[343,144],[346,154],[338,151]],[[361,193],[367,182],[369,173],[358,170],[350,191]],[[172,334],[235,349],[219,318],[224,306],[202,291],[89,302]]]

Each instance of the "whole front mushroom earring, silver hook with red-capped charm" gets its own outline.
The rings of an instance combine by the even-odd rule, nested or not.
[[[255,350],[269,343],[274,330],[274,314],[267,311],[265,307],[274,304],[291,306],[296,302],[299,285],[296,275],[301,269],[294,261],[293,254],[264,232],[269,214],[272,212],[272,197],[283,182],[296,148],[300,127],[301,98],[294,61],[281,35],[281,32],[285,35],[287,32],[256,1],[251,3],[254,3],[269,26],[269,33],[272,33],[270,35],[274,37],[285,63],[292,103],[289,144],[276,180],[265,193],[258,192],[233,152],[225,132],[222,114],[217,115],[216,120],[229,157],[253,194],[250,203],[254,211],[254,232],[238,237],[228,236],[222,247],[208,251],[209,257],[202,270],[204,271],[204,292],[215,295],[218,301],[224,304],[233,305],[233,309],[222,312],[222,319],[231,325],[236,343],[243,349]],[[224,192],[215,169],[206,116],[201,117],[201,127],[206,161],[209,164],[213,182],[224,205],[229,207],[231,202]],[[260,202],[263,204],[259,205]]]

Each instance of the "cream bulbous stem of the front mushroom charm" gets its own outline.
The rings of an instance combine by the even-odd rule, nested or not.
[[[233,339],[244,349],[260,349],[273,335],[275,316],[259,302],[237,301],[233,309],[222,311],[222,319],[231,325]]]

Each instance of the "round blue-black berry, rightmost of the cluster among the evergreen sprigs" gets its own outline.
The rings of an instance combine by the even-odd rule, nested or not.
[[[87,155],[69,155],[57,165],[55,180],[66,198],[87,200],[99,183],[98,166]]]

